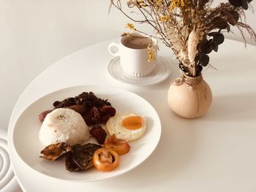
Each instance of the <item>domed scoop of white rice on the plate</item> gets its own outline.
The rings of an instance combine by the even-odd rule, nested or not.
[[[67,142],[69,145],[83,144],[89,138],[89,128],[83,117],[67,108],[59,108],[48,113],[39,131],[39,139],[44,145],[56,142]]]

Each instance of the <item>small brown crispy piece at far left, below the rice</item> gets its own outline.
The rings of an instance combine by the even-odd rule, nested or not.
[[[55,161],[57,158],[69,153],[72,150],[69,144],[59,142],[56,144],[48,145],[44,150],[41,151],[40,158],[45,158],[50,161]]]

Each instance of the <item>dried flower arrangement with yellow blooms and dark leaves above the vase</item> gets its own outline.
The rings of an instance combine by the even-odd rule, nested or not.
[[[128,13],[122,7],[124,1],[110,1],[111,6],[133,22],[149,24],[154,29],[150,36],[170,47],[180,69],[191,77],[199,75],[203,67],[211,66],[208,54],[218,51],[225,39],[222,32],[230,32],[230,26],[236,26],[243,38],[245,29],[256,41],[255,31],[246,24],[244,13],[249,6],[252,9],[249,5],[252,0],[228,0],[217,7],[213,6],[214,0],[125,0],[131,9]],[[132,18],[132,14],[137,18]],[[138,19],[138,15],[142,19]],[[128,23],[127,28],[144,33],[132,23]],[[154,58],[152,52],[149,53]]]

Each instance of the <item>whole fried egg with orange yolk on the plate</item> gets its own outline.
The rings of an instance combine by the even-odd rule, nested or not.
[[[116,114],[108,120],[106,128],[110,135],[116,134],[116,138],[131,142],[145,134],[146,120],[140,115]]]

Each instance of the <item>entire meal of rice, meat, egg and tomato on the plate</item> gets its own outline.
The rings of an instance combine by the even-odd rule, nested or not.
[[[108,100],[99,99],[92,92],[55,101],[53,106],[53,110],[39,114],[42,122],[39,139],[47,146],[40,158],[56,161],[65,156],[69,172],[80,172],[92,166],[102,172],[116,169],[118,155],[129,153],[128,142],[139,139],[146,132],[145,118],[116,114]],[[102,128],[104,124],[110,134],[108,139]],[[91,136],[99,145],[89,142]]]

